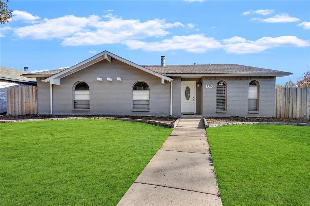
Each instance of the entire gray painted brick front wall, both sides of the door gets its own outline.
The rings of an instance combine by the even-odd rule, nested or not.
[[[97,81],[97,77],[103,82]],[[112,82],[106,80],[113,79]],[[121,77],[122,81],[116,81]],[[185,79],[188,80],[188,79]],[[204,117],[274,115],[275,77],[203,77],[202,87],[197,89],[197,113]],[[216,113],[216,83],[224,80],[227,86],[227,112]],[[248,113],[248,84],[256,80],[260,84],[259,114]],[[73,85],[85,81],[90,88],[90,111],[72,111]],[[150,87],[150,111],[135,112],[132,109],[132,86],[145,81]],[[213,88],[205,88],[212,84]],[[50,113],[50,83],[37,79],[38,113]],[[172,115],[181,115],[181,78],[173,81]],[[199,98],[198,98],[199,96]],[[200,100],[198,100],[200,99]],[[170,82],[161,84],[161,79],[118,60],[103,60],[81,71],[60,79],[53,85],[53,114],[116,114],[116,115],[170,115]]]

